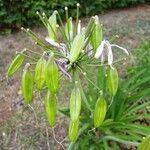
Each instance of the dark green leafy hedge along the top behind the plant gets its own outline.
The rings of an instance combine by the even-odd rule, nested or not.
[[[0,30],[17,29],[20,26],[31,26],[39,23],[36,11],[50,15],[57,9],[61,14],[64,7],[71,9],[75,16],[76,3],[81,4],[80,15],[93,15],[112,8],[127,7],[147,3],[149,0],[0,0]],[[63,16],[62,16],[63,17]]]

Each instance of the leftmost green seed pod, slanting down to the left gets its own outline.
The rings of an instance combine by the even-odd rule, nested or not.
[[[7,76],[8,77],[12,76],[20,68],[23,61],[24,61],[24,56],[22,54],[17,54],[17,56],[13,59],[12,63],[10,64],[7,70]]]

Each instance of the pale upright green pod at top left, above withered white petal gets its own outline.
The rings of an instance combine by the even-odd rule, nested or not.
[[[56,41],[56,32],[57,32],[57,19],[56,19],[56,11],[49,18],[49,24],[47,25],[49,37]]]

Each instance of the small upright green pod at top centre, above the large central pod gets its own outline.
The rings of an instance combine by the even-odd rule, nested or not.
[[[72,18],[69,18],[66,25],[65,25],[65,34],[69,41],[73,39],[73,23]]]

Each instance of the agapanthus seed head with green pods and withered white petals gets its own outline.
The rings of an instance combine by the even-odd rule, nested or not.
[[[90,112],[91,120],[93,120],[91,129],[95,130],[103,124],[107,111],[113,103],[113,97],[117,93],[119,84],[113,49],[123,50],[127,55],[129,52],[121,46],[111,44],[112,39],[109,41],[104,38],[103,26],[98,16],[91,17],[88,25],[83,27],[79,20],[79,4],[77,4],[75,21],[68,17],[68,8],[65,7],[65,24],[57,11],[54,11],[49,18],[45,13],[37,12],[37,15],[47,29],[48,34],[45,39],[41,39],[30,29],[23,27],[21,29],[35,41],[43,53],[28,48],[17,52],[8,68],[7,77],[12,76],[25,60],[30,60],[30,63],[26,63],[22,74],[24,103],[25,105],[32,103],[34,91],[47,90],[44,100],[45,111],[52,128],[56,125],[56,101],[59,85],[61,78],[65,77],[72,84],[68,108],[70,111],[68,137],[74,143],[79,136],[80,122],[82,119],[84,120],[85,114],[81,113],[82,106],[85,105],[85,108]],[[99,66],[100,86],[88,78],[87,66],[93,70],[95,70],[95,66]],[[33,72],[33,68],[35,72]],[[82,86],[83,81],[80,80],[80,76],[83,76],[98,93],[97,101],[93,101],[94,107],[91,107],[84,98],[84,86]],[[103,84],[104,81],[106,84]],[[64,113],[63,110],[61,112]],[[62,145],[61,142],[59,143]]]

